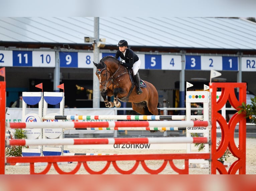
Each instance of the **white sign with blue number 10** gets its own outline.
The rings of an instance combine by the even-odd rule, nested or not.
[[[33,67],[55,67],[55,52],[33,51]]]

